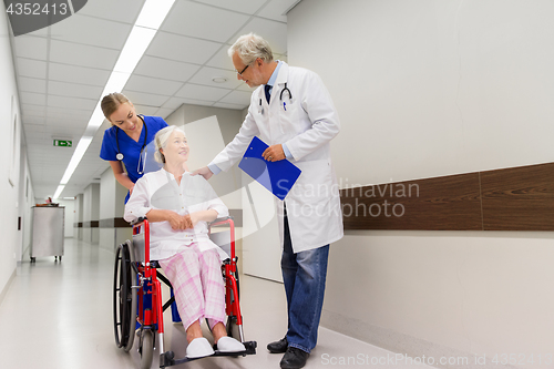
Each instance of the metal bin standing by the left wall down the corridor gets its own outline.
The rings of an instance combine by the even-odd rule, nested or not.
[[[33,206],[33,232],[31,236],[31,263],[37,257],[54,256],[55,260],[63,256],[64,217],[63,206]]]

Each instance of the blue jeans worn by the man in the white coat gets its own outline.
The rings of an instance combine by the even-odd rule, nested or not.
[[[310,352],[317,342],[317,330],[324,306],[329,245],[293,252],[285,211],[285,247],[280,262],[288,310],[288,345]]]

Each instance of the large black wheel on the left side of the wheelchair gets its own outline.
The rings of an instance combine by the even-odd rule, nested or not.
[[[115,345],[125,351],[134,342],[136,289],[132,288],[135,273],[131,266],[129,244],[117,246],[113,276],[113,324]]]

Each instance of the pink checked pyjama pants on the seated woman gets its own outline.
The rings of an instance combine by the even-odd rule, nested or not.
[[[158,263],[172,283],[185,329],[202,318],[208,319],[209,328],[225,320],[225,285],[217,250],[201,252],[194,243]]]

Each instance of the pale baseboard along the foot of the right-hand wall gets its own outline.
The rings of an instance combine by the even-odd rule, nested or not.
[[[391,329],[373,326],[325,309],[321,311],[320,325],[321,327],[389,350],[393,352],[391,356],[400,353],[412,359],[433,358],[435,360],[434,363],[431,365],[428,361],[424,361],[424,363],[429,363],[435,368],[483,369],[495,367],[491,361],[493,358],[483,357],[483,355],[475,356],[475,353],[464,352]],[[439,362],[441,358],[445,362],[450,360],[451,363],[441,365]],[[413,362],[417,363],[417,360]],[[502,366],[502,368],[517,369],[517,367],[510,365]]]

